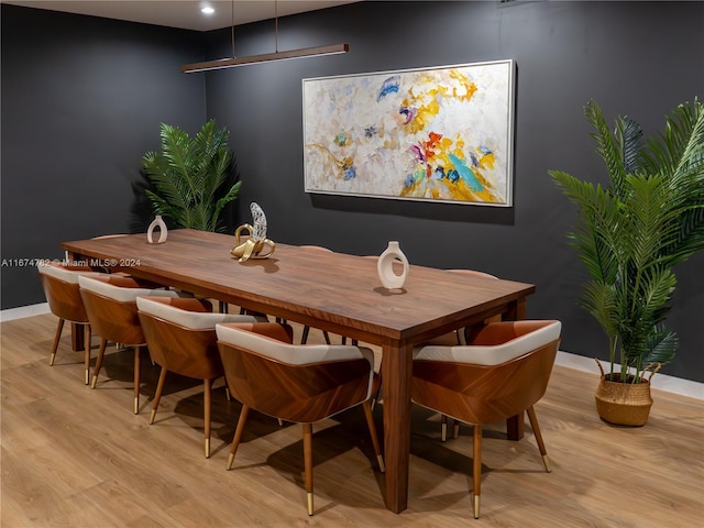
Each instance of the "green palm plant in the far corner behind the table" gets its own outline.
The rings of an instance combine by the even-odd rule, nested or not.
[[[143,174],[151,184],[145,194],[155,215],[177,228],[222,231],[222,213],[240,191],[234,182],[230,133],[208,121],[195,138],[169,124],[161,124],[162,152],[142,157]]]

